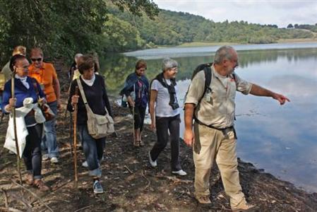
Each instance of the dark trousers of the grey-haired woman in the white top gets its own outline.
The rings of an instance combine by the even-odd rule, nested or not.
[[[155,117],[157,141],[150,151],[152,160],[156,160],[158,155],[167,145],[167,141],[171,141],[171,167],[172,171],[181,170],[179,162],[179,123],[181,119],[179,114],[174,117]]]

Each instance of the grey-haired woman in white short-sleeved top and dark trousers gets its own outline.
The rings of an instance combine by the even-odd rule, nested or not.
[[[156,129],[157,141],[148,153],[152,167],[157,166],[157,157],[171,141],[172,174],[186,175],[181,170],[179,161],[179,103],[177,101],[177,61],[164,59],[162,73],[158,74],[150,85],[150,116],[151,129]]]

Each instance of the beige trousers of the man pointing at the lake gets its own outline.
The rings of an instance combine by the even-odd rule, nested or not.
[[[197,123],[194,124],[193,130],[195,134],[193,145],[195,194],[198,196],[210,195],[210,170],[215,160],[220,170],[225,192],[230,197],[232,208],[246,203],[239,181],[237,140],[234,139],[234,131],[223,132]]]

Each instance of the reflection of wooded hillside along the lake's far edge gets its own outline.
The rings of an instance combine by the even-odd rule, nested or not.
[[[317,48],[313,49],[273,49],[273,50],[243,50],[239,52],[239,69],[248,69],[249,66],[256,64],[276,64],[277,60],[285,60],[289,64],[297,61],[314,60],[317,63]],[[165,55],[165,57],[170,55]],[[177,57],[179,62],[179,73],[177,78],[185,80],[191,78],[191,73],[198,64],[213,61],[213,56],[197,56],[191,53],[191,57]],[[101,72],[106,77],[107,86],[112,93],[118,93],[123,86],[124,80],[129,73],[134,71],[137,59],[135,57],[126,57],[123,54],[112,55],[100,59]],[[160,73],[162,59],[151,59],[148,62],[148,78],[154,78]],[[287,63],[286,63],[287,64]],[[267,66],[266,68],[270,68]],[[256,67],[256,69],[259,69]],[[284,69],[282,67],[281,69]],[[292,69],[292,68],[291,68]]]

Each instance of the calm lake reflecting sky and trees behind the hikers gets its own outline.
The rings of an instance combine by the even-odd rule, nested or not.
[[[272,98],[237,93],[238,157],[308,192],[317,192],[317,42],[234,47],[239,54],[235,72],[241,78],[291,100],[280,106]],[[146,49],[109,55],[100,64],[108,92],[117,96],[137,59],[148,62],[149,79],[160,73],[162,58],[176,59],[182,101],[193,69],[213,61],[217,48]]]

